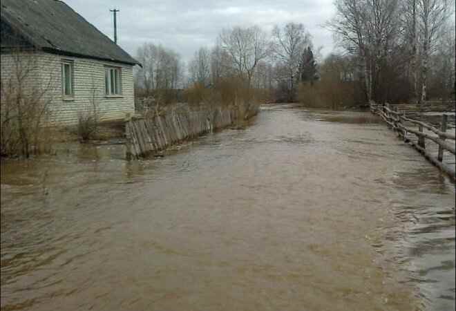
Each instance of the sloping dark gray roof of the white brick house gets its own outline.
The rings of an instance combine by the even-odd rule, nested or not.
[[[140,64],[63,1],[1,0],[1,28],[49,53]]]

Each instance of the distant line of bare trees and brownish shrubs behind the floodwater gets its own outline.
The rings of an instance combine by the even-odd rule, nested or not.
[[[338,54],[321,57],[303,23],[223,29],[188,64],[144,43],[136,93],[158,102],[301,102],[341,109],[455,96],[454,1],[337,0],[325,27]],[[171,90],[184,89],[181,92]]]

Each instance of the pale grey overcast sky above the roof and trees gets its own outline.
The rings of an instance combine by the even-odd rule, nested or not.
[[[321,25],[332,17],[333,0],[64,0],[87,21],[113,38],[117,8],[117,41],[131,55],[144,42],[173,48],[188,61],[200,46],[213,46],[222,28],[303,23],[322,54],[332,51],[332,35]]]

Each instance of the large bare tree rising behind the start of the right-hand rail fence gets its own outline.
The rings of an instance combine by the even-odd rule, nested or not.
[[[337,0],[336,16],[327,24],[339,43],[363,61],[359,72],[369,101],[386,100],[392,85],[390,67],[397,64],[398,57],[406,56],[402,64],[410,58],[410,53],[403,53],[403,7],[398,0]]]

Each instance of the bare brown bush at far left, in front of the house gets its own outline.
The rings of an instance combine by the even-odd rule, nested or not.
[[[4,57],[4,58],[3,58]],[[24,156],[50,150],[46,140],[50,116],[51,81],[36,81],[39,72],[34,53],[2,55],[8,64],[1,72],[0,153]]]

